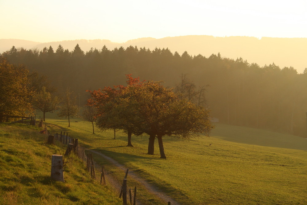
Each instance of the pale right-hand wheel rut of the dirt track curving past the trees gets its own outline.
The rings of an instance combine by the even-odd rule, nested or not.
[[[95,154],[97,154],[99,156],[102,156],[103,158],[105,158],[106,160],[108,160],[109,162],[111,162],[112,164],[114,164],[116,167],[118,167],[119,169],[121,169],[124,172],[127,170],[127,168],[124,165],[119,164],[117,161],[115,161],[111,157],[108,157],[108,156],[106,156],[106,155],[104,155],[104,154],[102,154],[100,152],[96,152],[94,150],[87,150],[87,151],[93,152],[93,153],[95,153]],[[132,179],[142,183],[146,187],[148,192],[150,192],[153,195],[158,196],[162,201],[165,202],[165,204],[170,202],[172,205],[179,205],[179,203],[177,203],[174,199],[170,198],[168,195],[166,195],[162,191],[158,190],[157,187],[154,187],[153,185],[147,183],[146,180],[138,177],[133,171],[129,170],[129,177],[131,177]]]

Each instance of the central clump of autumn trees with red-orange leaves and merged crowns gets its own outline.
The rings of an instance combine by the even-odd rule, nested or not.
[[[150,155],[154,154],[154,141],[157,138],[162,159],[166,159],[163,136],[190,138],[208,133],[213,128],[207,109],[179,98],[172,89],[162,86],[161,82],[140,82],[131,75],[127,75],[127,78],[126,87],[104,88],[103,92],[90,91],[88,104],[99,109],[96,122],[99,128],[123,129],[128,137],[129,133],[148,134],[147,154]]]

